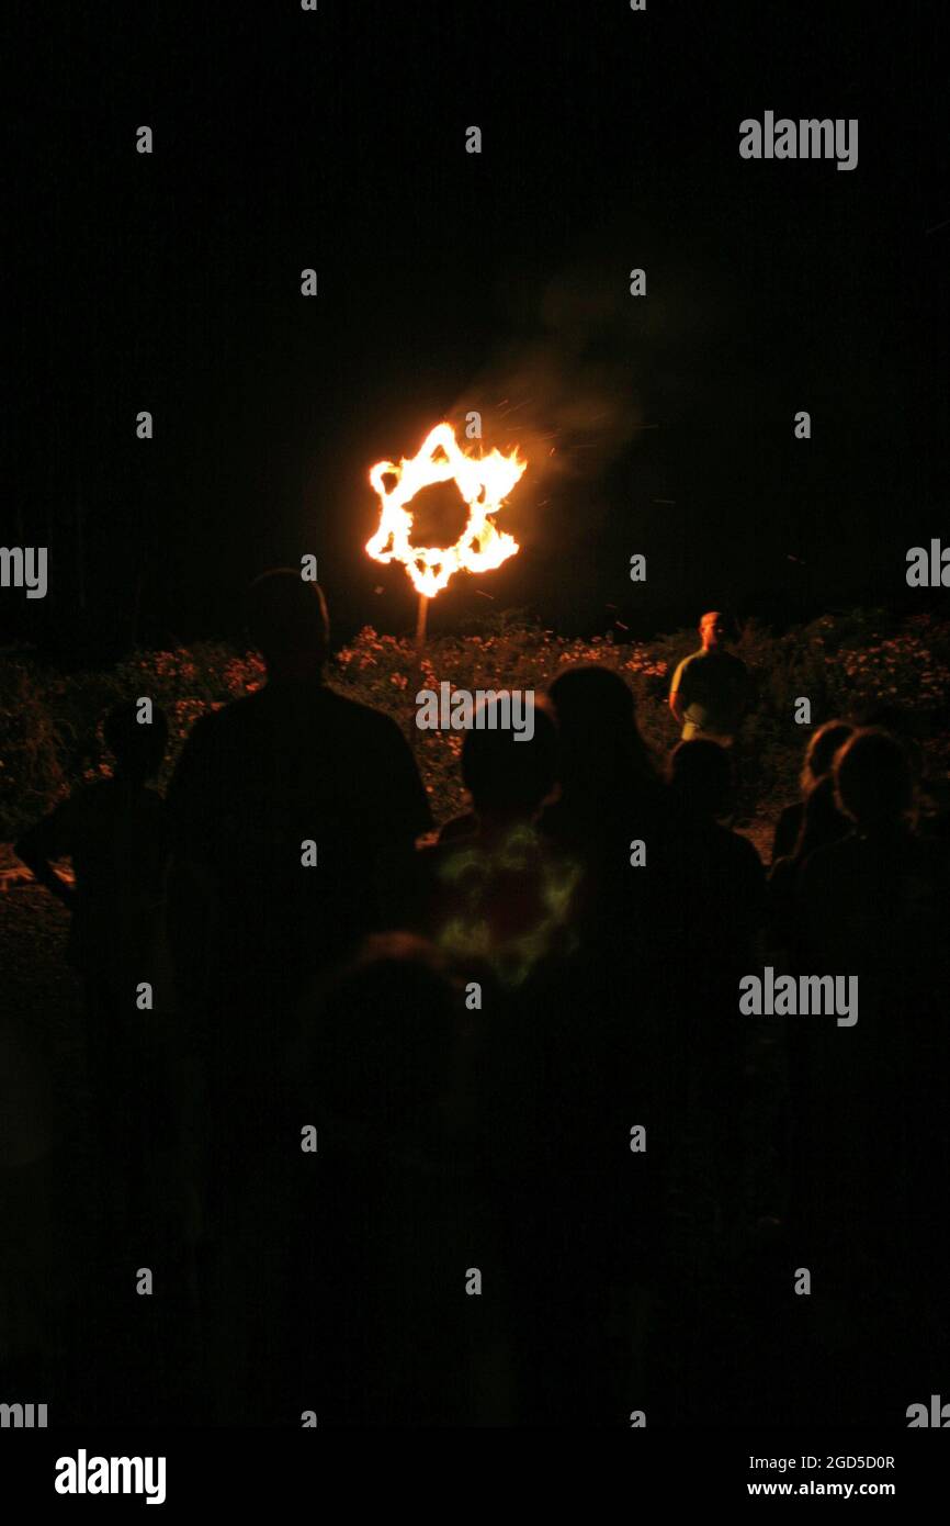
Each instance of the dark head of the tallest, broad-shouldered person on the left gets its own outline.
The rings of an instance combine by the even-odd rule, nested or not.
[[[311,678],[329,650],[326,600],[293,568],[265,572],[247,592],[247,633],[271,678]]]

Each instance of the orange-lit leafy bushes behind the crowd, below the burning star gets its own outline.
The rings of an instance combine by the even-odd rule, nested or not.
[[[329,682],[342,693],[395,717],[415,749],[439,821],[464,809],[459,780],[462,737],[419,731],[413,699],[419,688],[544,690],[567,667],[601,664],[621,673],[636,697],[640,729],[657,757],[677,740],[666,708],[672,670],[695,650],[692,632],[647,642],[611,635],[560,636],[520,612],[485,620],[468,635],[435,638],[416,658],[406,638],[366,626],[332,658]],[[794,723],[794,700],[811,700],[813,725],[833,714],[863,719],[872,707],[904,708],[932,768],[950,752],[950,624],[930,615],[895,621],[883,610],[825,615],[782,635],[749,621],[737,644],[756,685],[747,722],[755,790],[767,804],[794,794],[807,728]],[[209,710],[264,682],[261,659],[223,642],[136,652],[110,671],[64,674],[41,665],[29,649],[0,652],[0,836],[12,836],[69,789],[108,772],[102,717],[119,699],[148,694],[168,714],[171,745],[160,784],[191,726]]]

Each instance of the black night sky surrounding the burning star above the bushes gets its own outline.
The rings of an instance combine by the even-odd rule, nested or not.
[[[49,545],[50,594],[5,591],[6,629],[76,652],[233,632],[247,578],[305,551],[340,630],[407,629],[406,575],[363,554],[366,472],[462,398],[486,446],[560,427],[560,470],[526,475],[502,519],[522,554],[457,578],[435,629],[489,607],[479,588],[643,633],[907,603],[906,549],[950,530],[936,15],[23,6],[3,543]],[[741,160],[765,110],[857,116],[857,169]]]

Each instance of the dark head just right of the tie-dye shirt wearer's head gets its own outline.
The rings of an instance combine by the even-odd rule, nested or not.
[[[564,795],[590,795],[636,778],[654,778],[636,723],[633,691],[604,667],[560,673],[547,690],[558,717]],[[596,801],[592,801],[596,803]]]

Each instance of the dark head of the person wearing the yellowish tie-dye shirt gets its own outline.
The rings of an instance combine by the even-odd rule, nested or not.
[[[557,781],[557,728],[540,697],[534,700],[534,736],[506,726],[496,699],[474,713],[476,725],[462,743],[462,778],[479,816],[534,816]],[[494,722],[480,728],[477,722]]]

